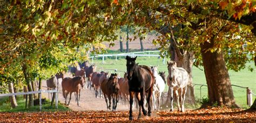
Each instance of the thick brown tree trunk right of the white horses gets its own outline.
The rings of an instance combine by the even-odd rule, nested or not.
[[[238,107],[235,104],[223,52],[216,51],[211,53],[210,51],[206,51],[213,47],[213,38],[211,39],[211,43],[204,42],[204,44],[200,44],[210,103],[217,103],[220,106]]]

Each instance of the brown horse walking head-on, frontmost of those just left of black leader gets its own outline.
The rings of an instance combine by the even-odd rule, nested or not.
[[[118,91],[119,91],[117,74],[111,74],[109,79],[105,80],[100,86],[100,88],[102,88],[107,109],[111,110],[111,97],[112,97],[113,98],[112,111],[116,111],[117,103],[118,103]],[[109,99],[109,105],[107,104],[107,98]]]

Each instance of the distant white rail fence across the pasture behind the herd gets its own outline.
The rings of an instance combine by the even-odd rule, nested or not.
[[[150,53],[154,53],[154,52],[159,52],[160,53],[160,50],[153,50],[153,51],[145,51],[145,52],[132,52],[132,53],[120,53],[120,54],[97,54],[95,56],[90,56],[89,58],[92,59],[92,62],[93,62],[93,59],[95,57],[102,57],[102,63],[104,63],[104,60],[105,60],[105,57],[113,57],[113,56],[116,56],[116,60],[117,60],[117,57],[118,56],[126,56],[126,55],[129,55],[129,56],[152,56],[152,57],[159,57],[160,55],[158,54],[150,54]],[[147,53],[147,54],[145,54]],[[165,64],[165,58],[163,59],[163,64]]]

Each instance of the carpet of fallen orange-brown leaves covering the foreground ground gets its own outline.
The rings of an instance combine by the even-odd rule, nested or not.
[[[133,114],[138,115],[138,112]],[[18,112],[0,113],[0,122],[129,122],[128,111],[67,111],[67,112]],[[144,116],[134,122],[255,122],[256,111],[240,108],[211,107],[201,110],[191,110],[184,113],[160,111],[153,112],[152,117]]]

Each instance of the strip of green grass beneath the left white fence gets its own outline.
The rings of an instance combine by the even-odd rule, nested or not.
[[[39,112],[39,105],[33,106],[25,109],[25,99],[23,96],[19,95],[16,98],[18,106],[16,108],[12,108],[9,97],[4,97],[0,99],[0,112]],[[70,111],[68,107],[65,105],[58,103],[58,109],[55,108],[55,105],[51,106],[50,100],[46,100],[44,104],[42,104],[43,112],[54,112],[54,111]]]

